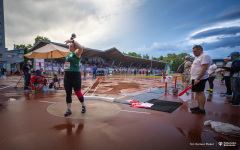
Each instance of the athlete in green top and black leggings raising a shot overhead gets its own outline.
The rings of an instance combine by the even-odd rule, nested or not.
[[[76,38],[75,34],[72,34],[70,40],[66,40],[65,43],[69,44],[70,52],[65,57],[64,63],[64,88],[66,91],[66,102],[67,102],[67,111],[64,114],[69,116],[71,112],[72,104],[72,88],[75,91],[79,101],[82,104],[82,113],[86,112],[86,106],[84,105],[84,98],[81,92],[81,72],[79,68],[80,57],[83,52],[83,47],[77,42],[74,41]]]

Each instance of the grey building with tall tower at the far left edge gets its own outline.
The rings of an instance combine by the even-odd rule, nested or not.
[[[23,48],[8,50],[5,48],[5,29],[4,29],[4,7],[3,0],[0,0],[0,68],[5,68],[7,74],[11,70],[19,70],[20,64],[24,61]]]

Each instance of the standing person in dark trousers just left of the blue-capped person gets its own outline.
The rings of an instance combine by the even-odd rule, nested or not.
[[[227,92],[225,94],[226,96],[232,95],[231,77],[230,77],[230,71],[229,71],[232,66],[232,62],[230,60],[231,58],[229,57],[224,58],[224,62],[226,63],[226,66],[224,67],[224,80],[227,87]]]

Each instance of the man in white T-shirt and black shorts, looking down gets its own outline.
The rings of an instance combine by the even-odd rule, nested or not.
[[[204,89],[209,77],[207,70],[212,63],[212,58],[208,54],[203,53],[203,48],[200,45],[194,46],[192,51],[197,57],[193,61],[191,67],[192,92],[196,92],[195,99],[198,102],[198,106],[190,110],[192,113],[205,114],[204,106],[206,96],[204,94]]]

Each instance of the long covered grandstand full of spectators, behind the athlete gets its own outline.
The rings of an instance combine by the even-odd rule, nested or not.
[[[34,45],[30,51],[34,51],[40,47],[43,47],[47,44],[55,44],[58,46],[62,46],[65,48],[68,48],[69,45],[61,44],[61,43],[55,43],[55,42],[49,42],[49,41],[39,41],[36,45]],[[81,62],[83,64],[101,64],[112,68],[152,68],[152,69],[164,69],[169,70],[169,63],[167,62],[161,62],[161,61],[155,61],[145,58],[138,58],[133,57],[129,55],[125,55],[122,52],[120,52],[117,48],[113,47],[107,50],[96,50],[91,48],[83,48],[83,53],[81,55]],[[49,60],[46,60],[49,61]],[[49,64],[51,65],[50,61],[47,63],[45,61],[45,65]],[[60,64],[64,63],[64,59],[53,60],[58,61]],[[53,68],[57,68],[57,66],[54,66]],[[51,67],[50,67],[51,68]],[[35,68],[34,68],[35,69]],[[44,69],[46,70],[46,69]],[[55,69],[54,69],[55,70]]]

